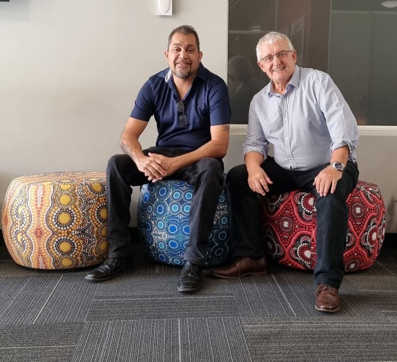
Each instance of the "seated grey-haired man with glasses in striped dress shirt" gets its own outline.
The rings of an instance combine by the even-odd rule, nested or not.
[[[302,189],[316,196],[315,307],[334,312],[344,271],[346,198],[358,180],[357,122],[327,73],[296,65],[296,50],[284,34],[261,38],[257,59],[270,83],[250,105],[245,164],[231,169],[226,180],[235,258],[213,274],[265,274],[258,196]],[[270,143],[274,158],[267,155]]]

